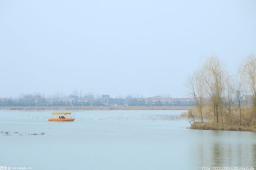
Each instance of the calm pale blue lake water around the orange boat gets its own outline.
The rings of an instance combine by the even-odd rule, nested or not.
[[[49,122],[51,112],[0,111],[0,166],[33,170],[256,167],[256,133],[191,130],[188,120],[180,117],[184,111],[71,111],[74,122]]]

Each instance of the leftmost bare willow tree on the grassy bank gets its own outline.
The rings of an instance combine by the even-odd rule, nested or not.
[[[193,97],[196,108],[198,109],[201,121],[203,122],[203,105],[204,105],[204,78],[202,70],[197,70],[190,75],[186,82],[189,94]]]

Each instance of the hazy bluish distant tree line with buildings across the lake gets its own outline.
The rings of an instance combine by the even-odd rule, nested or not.
[[[107,96],[107,97],[106,97]],[[0,106],[193,106],[192,98],[111,98],[109,95],[95,98],[68,95],[45,98],[40,95],[24,95],[19,98],[0,98]]]

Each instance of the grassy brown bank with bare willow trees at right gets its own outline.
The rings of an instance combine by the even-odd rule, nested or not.
[[[189,117],[191,129],[256,131],[256,57],[241,64],[237,78],[225,72],[217,56],[191,74],[186,87],[195,107]]]

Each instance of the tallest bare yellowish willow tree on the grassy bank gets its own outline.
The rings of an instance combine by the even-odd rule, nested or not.
[[[221,116],[223,128],[222,100],[225,92],[225,71],[217,56],[208,58],[207,62],[204,64],[203,71],[205,74],[205,89],[209,99],[211,100],[214,110],[214,118],[218,124],[219,115]]]

